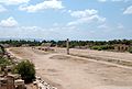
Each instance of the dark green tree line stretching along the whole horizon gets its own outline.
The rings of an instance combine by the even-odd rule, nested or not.
[[[29,46],[41,46],[42,43],[51,43],[51,46],[66,47],[66,41],[0,41],[0,44],[9,44],[10,46],[22,46],[24,44],[29,44]],[[114,45],[114,44],[125,44],[132,45],[132,40],[113,40],[113,41],[69,41],[69,47],[76,46],[99,46],[99,45]]]

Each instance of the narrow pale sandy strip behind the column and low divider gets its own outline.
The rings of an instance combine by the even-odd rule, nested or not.
[[[58,53],[66,53],[65,48],[55,48]],[[132,54],[130,53],[116,53],[116,52],[105,52],[105,51],[91,51],[91,49],[75,49],[70,48],[72,54],[79,55],[89,55],[94,57],[103,57],[103,58],[113,58],[121,60],[130,60],[132,62]]]

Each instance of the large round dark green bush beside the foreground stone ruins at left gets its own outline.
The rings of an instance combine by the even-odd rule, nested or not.
[[[15,71],[21,75],[25,84],[32,82],[35,79],[34,65],[29,60],[19,63],[15,67]]]

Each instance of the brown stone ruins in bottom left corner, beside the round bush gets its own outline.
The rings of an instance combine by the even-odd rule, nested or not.
[[[4,69],[4,74],[0,76],[0,89],[25,89],[24,80],[20,75],[8,74],[8,69]]]

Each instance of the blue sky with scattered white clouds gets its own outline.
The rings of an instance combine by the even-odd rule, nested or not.
[[[132,40],[132,0],[0,0],[0,38]]]

